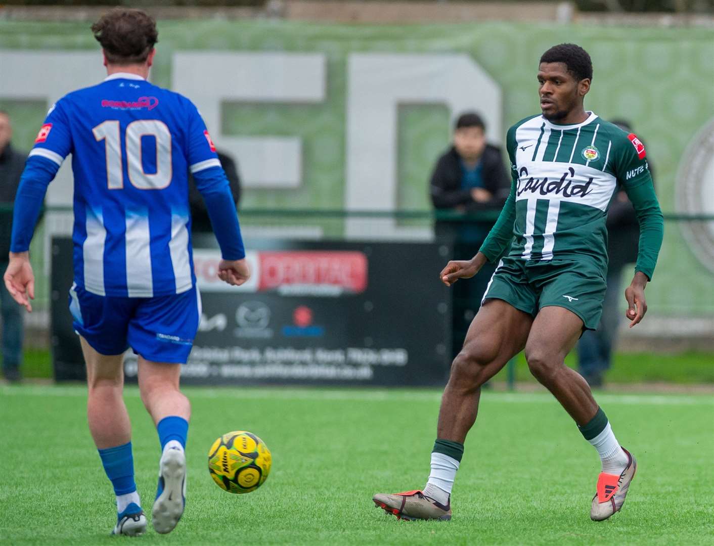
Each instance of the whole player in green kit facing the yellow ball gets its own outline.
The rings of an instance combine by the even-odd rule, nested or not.
[[[451,261],[441,271],[440,279],[451,286],[476,275],[486,261],[498,261],[451,365],[426,487],[374,495],[390,514],[451,519],[451,487],[476,420],[481,385],[523,349],[531,373],[600,455],[590,517],[605,520],[625,502],[635,457],[620,446],[588,383],[564,359],[583,330],[600,320],[608,267],[605,217],[615,190],[625,189],[640,223],[635,275],[625,290],[630,328],[647,311],[645,285],[662,243],[663,217],[643,144],[583,108],[592,79],[590,56],[575,44],[554,46],[541,56],[542,113],[508,130],[513,182],[501,216],[476,256]]]

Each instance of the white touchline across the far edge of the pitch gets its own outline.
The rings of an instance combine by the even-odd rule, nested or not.
[[[343,400],[363,402],[388,402],[390,400],[416,400],[438,402],[440,392],[413,390],[353,390],[353,389],[316,389],[316,388],[187,388],[184,393],[188,398],[233,398],[235,400]],[[86,396],[86,387],[28,385],[21,387],[0,387],[1,396]],[[139,398],[139,389],[129,386],[124,391],[127,398]],[[482,398],[488,403],[556,403],[548,393],[483,393]],[[598,394],[598,402],[625,405],[714,405],[710,395],[620,395]],[[1,401],[0,401],[1,405]]]

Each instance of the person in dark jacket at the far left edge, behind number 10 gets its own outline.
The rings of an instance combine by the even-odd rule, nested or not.
[[[27,154],[11,146],[12,124],[9,113],[0,110],[0,271],[8,266],[12,230],[12,206]],[[20,380],[24,325],[19,306],[7,289],[0,287],[2,310],[2,369],[5,379]]]

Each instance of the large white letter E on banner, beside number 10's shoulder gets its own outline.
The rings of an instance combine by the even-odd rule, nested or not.
[[[298,137],[221,134],[221,103],[318,103],[325,99],[322,54],[174,54],[173,89],[196,103],[218,148],[236,156],[247,187],[295,188],[302,178]]]

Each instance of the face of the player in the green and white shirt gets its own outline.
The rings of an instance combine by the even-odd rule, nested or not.
[[[557,121],[582,105],[582,98],[590,89],[590,80],[576,81],[565,63],[540,63],[538,95],[543,117]]]

